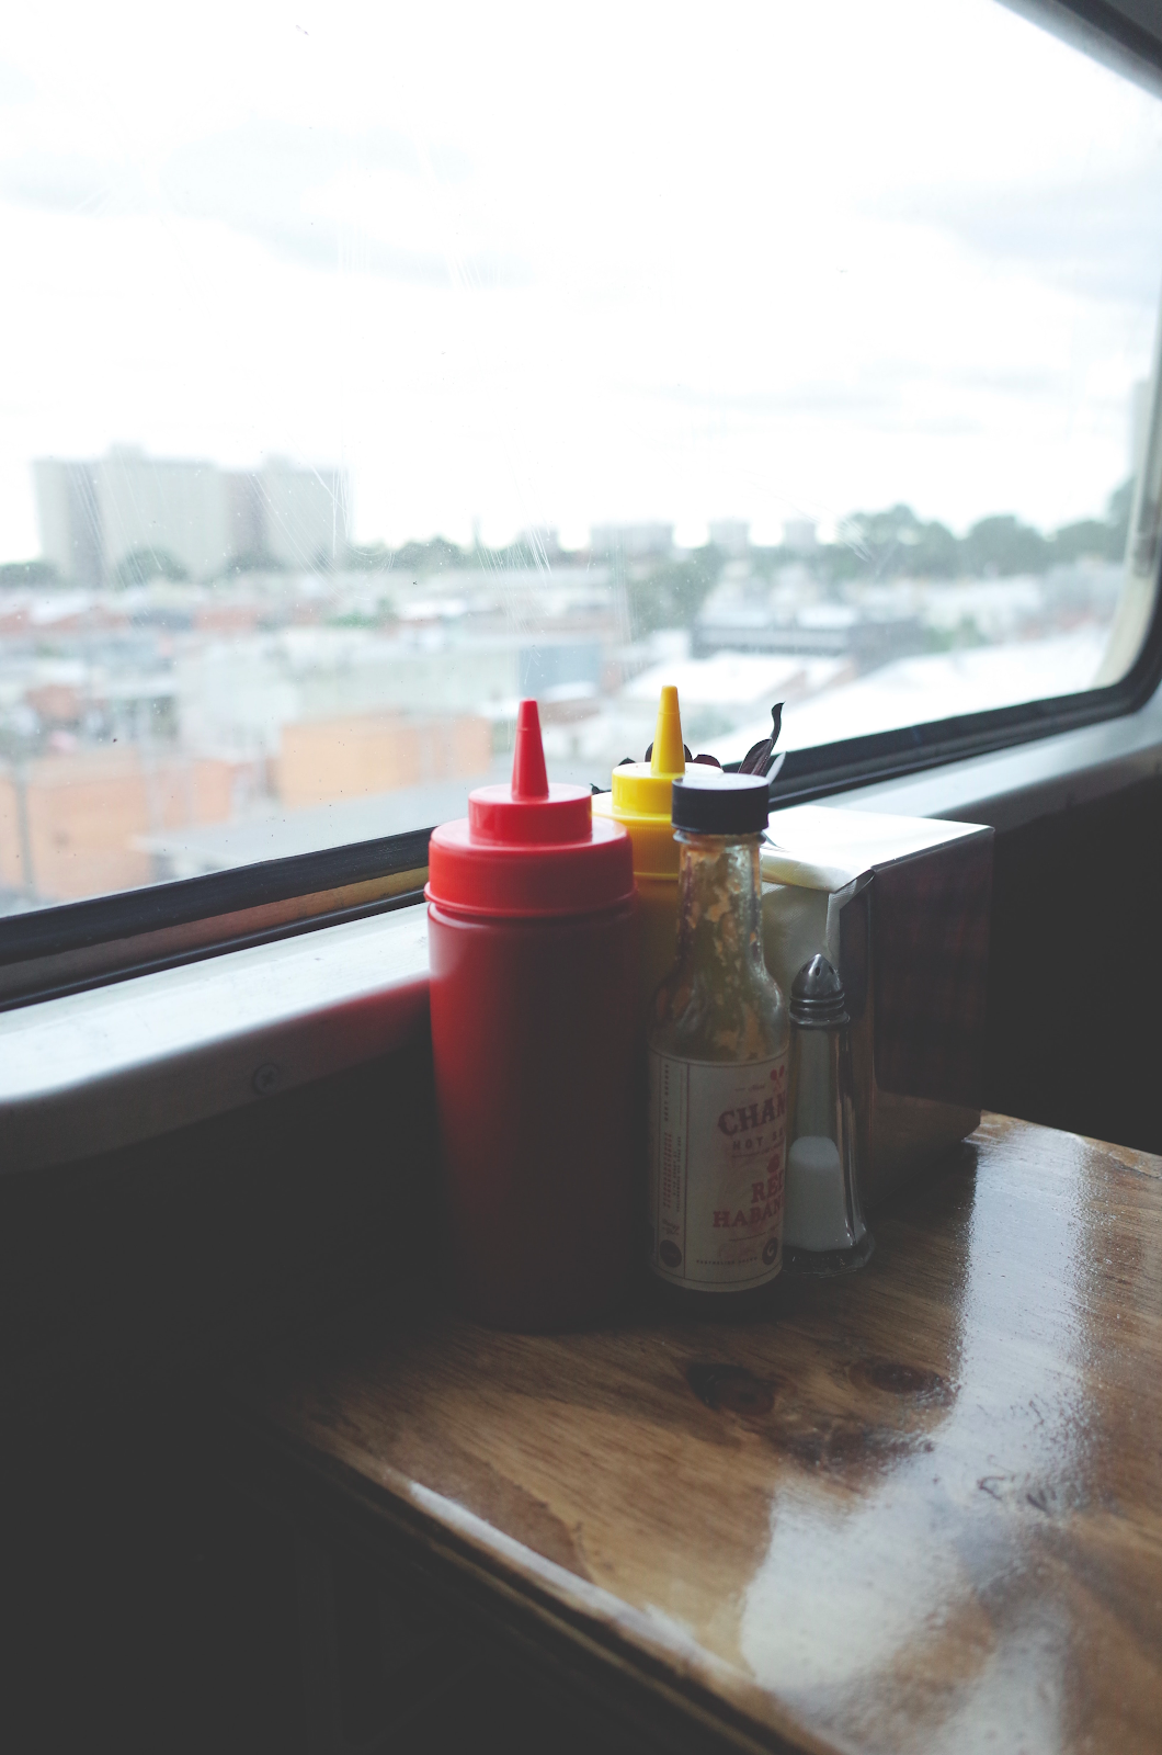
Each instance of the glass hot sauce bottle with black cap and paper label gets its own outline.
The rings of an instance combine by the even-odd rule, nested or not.
[[[700,1313],[767,1300],[783,1258],[788,1018],[762,953],[764,774],[672,786],[678,962],[649,1062],[648,1260]]]

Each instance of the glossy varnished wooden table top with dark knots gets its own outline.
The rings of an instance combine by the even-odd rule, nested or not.
[[[757,1327],[409,1302],[244,1418],[709,1741],[1157,1751],[1162,1162],[986,1116],[874,1232]]]

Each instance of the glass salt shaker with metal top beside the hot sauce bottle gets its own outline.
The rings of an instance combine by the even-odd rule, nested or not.
[[[874,1248],[860,1213],[851,1037],[843,983],[825,956],[792,985],[786,1206],[788,1274],[846,1274]]]

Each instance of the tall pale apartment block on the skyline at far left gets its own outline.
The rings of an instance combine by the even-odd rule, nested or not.
[[[237,560],[309,569],[348,546],[344,476],[281,458],[230,472],[116,446],[93,462],[42,458],[33,483],[42,555],[72,584],[118,583],[133,556],[216,579]]]

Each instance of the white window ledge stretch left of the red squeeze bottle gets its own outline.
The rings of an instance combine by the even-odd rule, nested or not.
[[[262,1102],[427,1027],[421,907],[0,1013],[0,1174]]]

